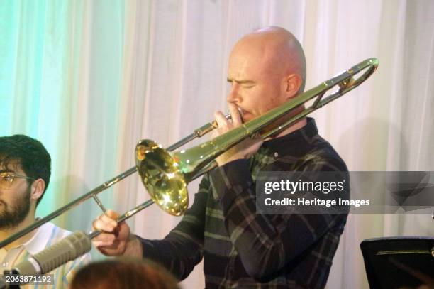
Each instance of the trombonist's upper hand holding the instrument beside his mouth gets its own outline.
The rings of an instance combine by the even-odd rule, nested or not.
[[[232,116],[232,121],[227,120],[221,111],[217,111],[214,114],[218,128],[213,130],[211,138],[221,136],[223,133],[226,133],[231,129],[243,124],[243,121],[241,121],[240,112],[238,111],[235,104],[229,104],[229,111],[230,115]],[[221,166],[233,160],[250,158],[250,156],[257,152],[262,143],[263,140],[260,136],[255,138],[246,138],[244,141],[241,141],[236,146],[233,146],[228,151],[218,156],[218,158],[216,158],[216,162],[219,166]]]

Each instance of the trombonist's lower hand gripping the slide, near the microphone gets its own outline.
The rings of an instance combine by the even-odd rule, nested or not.
[[[126,222],[116,222],[118,217],[117,212],[109,209],[106,214],[101,214],[94,220],[92,227],[102,233],[92,239],[92,243],[106,256],[125,255],[142,258],[142,244],[130,233],[130,227]]]

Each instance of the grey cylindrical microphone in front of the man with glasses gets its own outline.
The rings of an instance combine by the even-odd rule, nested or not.
[[[89,236],[84,231],[76,231],[43,251],[30,256],[27,260],[18,263],[13,268],[13,274],[42,275],[90,250],[91,239]]]

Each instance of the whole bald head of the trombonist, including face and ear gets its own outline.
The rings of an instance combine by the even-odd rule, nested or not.
[[[230,53],[227,100],[249,121],[296,97],[305,80],[299,41],[283,28],[264,28],[241,38]]]

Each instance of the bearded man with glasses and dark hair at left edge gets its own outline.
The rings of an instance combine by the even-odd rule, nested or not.
[[[23,135],[0,137],[1,240],[35,222],[35,209],[50,182],[50,166],[50,155],[40,141]],[[46,223],[1,248],[0,274],[68,234],[69,231]],[[54,285],[27,285],[25,288],[66,288],[77,266],[89,261],[90,255],[86,254],[50,272],[54,274]]]

